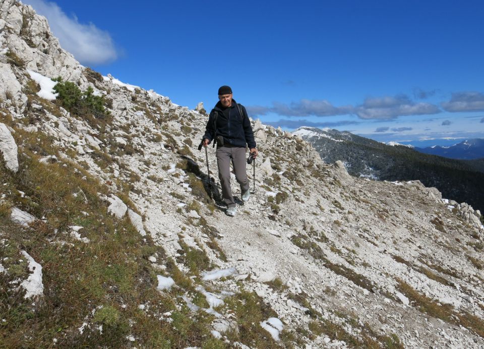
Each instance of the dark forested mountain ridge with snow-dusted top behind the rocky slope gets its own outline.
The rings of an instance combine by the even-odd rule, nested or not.
[[[445,198],[484,210],[482,159],[458,160],[426,154],[409,146],[387,145],[334,129],[300,127],[293,134],[310,142],[325,162],[343,161],[352,176],[382,181],[419,180],[426,187],[439,189]]]

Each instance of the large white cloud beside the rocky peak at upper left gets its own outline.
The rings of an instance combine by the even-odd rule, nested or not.
[[[79,23],[77,17],[70,18],[55,3],[43,0],[23,2],[47,18],[50,30],[59,39],[61,46],[82,64],[102,64],[117,58],[108,32],[100,30],[92,23]]]

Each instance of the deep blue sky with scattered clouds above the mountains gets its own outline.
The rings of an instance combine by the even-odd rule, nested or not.
[[[210,110],[414,145],[484,138],[484,2],[24,0],[84,65]]]

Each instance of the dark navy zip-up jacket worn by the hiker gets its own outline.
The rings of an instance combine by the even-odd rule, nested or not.
[[[232,99],[232,105],[227,108],[222,106],[220,101],[210,112],[208,118],[207,127],[205,128],[205,135],[203,138],[209,140],[209,143],[215,137],[215,111],[217,112],[217,136],[222,136],[225,144],[230,144],[237,147],[245,147],[246,144],[249,148],[256,147],[256,141],[254,139],[254,132],[252,131],[251,121],[247,115],[246,108],[240,105],[242,114],[240,115],[237,102]],[[225,113],[224,113],[225,110]],[[227,117],[228,115],[228,117]]]

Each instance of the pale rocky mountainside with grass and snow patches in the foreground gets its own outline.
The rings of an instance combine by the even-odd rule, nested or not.
[[[0,53],[0,346],[484,347],[471,206],[252,121],[228,217],[203,104],[80,65],[13,0]]]

